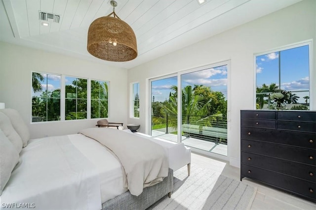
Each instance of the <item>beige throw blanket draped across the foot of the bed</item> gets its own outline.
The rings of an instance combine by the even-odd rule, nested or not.
[[[144,187],[168,176],[168,156],[152,141],[117,129],[88,128],[80,133],[97,140],[118,156],[126,173],[125,186],[132,195],[140,195]]]

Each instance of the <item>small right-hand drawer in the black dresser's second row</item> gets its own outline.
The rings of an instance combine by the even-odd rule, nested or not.
[[[277,129],[316,132],[316,122],[277,121]],[[316,134],[315,134],[316,135]]]

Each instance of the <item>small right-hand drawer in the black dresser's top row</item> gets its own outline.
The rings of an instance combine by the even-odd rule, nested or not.
[[[315,112],[278,111],[277,120],[316,121]]]

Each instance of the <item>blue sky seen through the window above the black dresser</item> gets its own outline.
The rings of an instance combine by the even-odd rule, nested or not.
[[[279,86],[280,62],[280,86]],[[292,48],[256,57],[256,86],[276,83],[289,91],[309,90],[309,46]],[[300,96],[299,103],[309,92],[294,92]]]

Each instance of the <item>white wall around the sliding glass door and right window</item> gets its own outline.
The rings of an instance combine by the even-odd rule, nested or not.
[[[314,39],[315,42],[315,7],[315,0],[304,0],[174,53],[129,69],[128,83],[140,82],[140,119],[128,119],[128,123],[140,123],[140,131],[146,131],[145,116],[149,107],[146,81],[149,78],[223,60],[231,60],[231,80],[229,81],[231,110],[228,113],[228,117],[231,119],[228,131],[231,138],[228,140],[228,156],[231,165],[239,167],[240,110],[255,107],[254,54],[308,39]],[[221,17],[217,21],[221,21]],[[316,43],[314,43],[314,55],[316,53],[315,46]],[[314,59],[314,67],[311,69],[316,83],[315,66],[316,59]],[[315,109],[316,90],[312,98]]]

